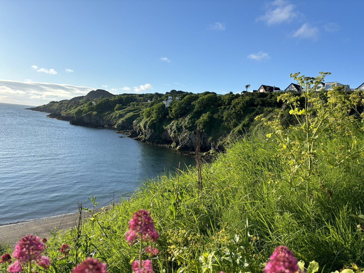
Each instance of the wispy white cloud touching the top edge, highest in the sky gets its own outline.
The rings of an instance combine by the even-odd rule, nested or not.
[[[265,21],[267,25],[290,22],[299,14],[294,8],[295,5],[288,1],[276,0],[267,5],[265,15],[259,16],[257,20]]]

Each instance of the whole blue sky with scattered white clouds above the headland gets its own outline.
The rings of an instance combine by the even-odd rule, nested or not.
[[[0,102],[90,90],[218,94],[286,88],[290,73],[364,82],[364,1],[10,1],[0,9]]]

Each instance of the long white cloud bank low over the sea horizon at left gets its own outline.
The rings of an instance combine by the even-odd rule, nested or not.
[[[42,105],[51,100],[71,99],[75,96],[86,95],[91,90],[95,88],[70,84],[0,80],[0,96],[5,95],[4,102],[27,105]]]

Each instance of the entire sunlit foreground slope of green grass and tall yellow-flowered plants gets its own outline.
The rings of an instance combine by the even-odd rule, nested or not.
[[[124,234],[143,209],[159,233],[154,272],[261,272],[282,245],[300,266],[316,260],[323,272],[363,272],[364,94],[313,92],[325,75],[292,75],[304,92],[277,98],[294,120],[290,126],[282,126],[285,109],[269,120],[258,116],[268,134],[237,139],[201,171],[146,181],[130,199],[103,213],[91,210],[74,230],[55,234],[46,249],[50,270],[70,272],[91,256],[108,272],[131,272],[141,248]],[[63,244],[69,252],[60,257]],[[307,268],[317,270],[317,263]]]

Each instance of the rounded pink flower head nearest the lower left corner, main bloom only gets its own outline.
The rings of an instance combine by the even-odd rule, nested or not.
[[[13,257],[26,264],[31,261],[39,261],[41,258],[40,253],[44,249],[43,242],[40,241],[38,236],[27,235],[24,236],[15,246]]]

